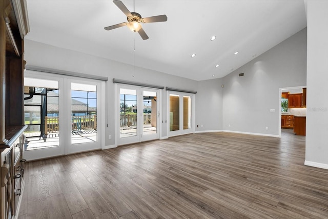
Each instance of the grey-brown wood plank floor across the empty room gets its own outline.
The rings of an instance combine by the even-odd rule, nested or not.
[[[328,218],[305,136],[198,133],[26,165],[19,218]]]

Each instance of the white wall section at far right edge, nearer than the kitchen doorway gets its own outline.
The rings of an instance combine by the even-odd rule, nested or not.
[[[328,1],[308,1],[305,164],[328,169]]]

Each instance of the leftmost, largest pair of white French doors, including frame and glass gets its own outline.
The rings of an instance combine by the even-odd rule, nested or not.
[[[27,160],[101,148],[103,82],[27,71],[24,88]]]

